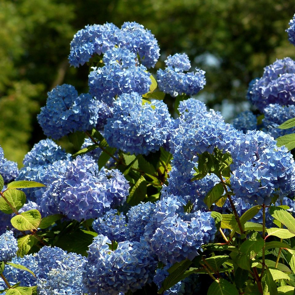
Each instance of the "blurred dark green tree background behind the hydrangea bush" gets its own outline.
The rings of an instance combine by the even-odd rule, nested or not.
[[[276,58],[295,59],[285,29],[295,13],[289,0],[1,0],[0,145],[22,165],[45,138],[37,123],[47,92],[72,84],[88,92],[89,69],[69,67],[74,33],[85,25],[136,21],[158,40],[161,57],[187,53],[192,68],[206,71],[196,98],[222,111],[227,121],[250,105],[249,82]],[[173,100],[165,97],[173,107]],[[63,144],[61,142],[61,144]]]

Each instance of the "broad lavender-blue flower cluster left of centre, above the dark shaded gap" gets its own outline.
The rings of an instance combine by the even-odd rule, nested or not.
[[[122,173],[112,170],[104,181],[96,177],[97,173],[97,164],[89,156],[68,161],[64,171],[51,176],[46,190],[41,192],[43,215],[62,213],[81,221],[101,217],[111,206],[123,204],[129,184]]]

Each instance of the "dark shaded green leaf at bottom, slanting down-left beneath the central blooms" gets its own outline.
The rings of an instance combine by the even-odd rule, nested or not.
[[[165,278],[162,284],[162,288],[159,290],[159,293],[162,293],[165,290],[170,289],[172,286],[177,284],[179,281],[183,280],[189,274],[185,274],[186,269],[191,265],[189,259],[185,259],[181,262],[176,262],[168,269],[168,277]]]

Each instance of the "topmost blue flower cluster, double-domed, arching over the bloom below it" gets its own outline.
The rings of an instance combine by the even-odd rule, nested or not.
[[[124,22],[121,29],[112,23],[85,26],[70,45],[69,62],[74,67],[84,65],[94,54],[105,53],[115,46],[126,48],[140,58],[142,65],[154,67],[159,59],[159,46],[150,30],[136,22]]]

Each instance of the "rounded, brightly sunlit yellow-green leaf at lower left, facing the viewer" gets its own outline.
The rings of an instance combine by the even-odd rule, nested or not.
[[[33,209],[23,212],[11,218],[11,224],[17,230],[37,230],[41,222],[41,214],[38,210]]]

